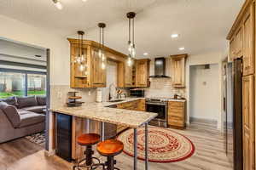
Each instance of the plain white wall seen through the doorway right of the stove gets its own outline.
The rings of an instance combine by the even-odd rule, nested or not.
[[[190,66],[190,117],[218,121],[218,64]]]

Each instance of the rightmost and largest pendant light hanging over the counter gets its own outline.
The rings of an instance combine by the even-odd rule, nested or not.
[[[135,58],[136,51],[135,51],[135,42],[134,42],[134,18],[136,16],[136,13],[129,12],[126,14],[128,20],[129,20],[129,40],[128,40],[128,60],[127,64],[129,66],[132,65],[132,58]]]

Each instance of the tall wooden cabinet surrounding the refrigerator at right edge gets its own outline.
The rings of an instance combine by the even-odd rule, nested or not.
[[[246,0],[227,37],[229,61],[242,58],[243,170],[255,169],[255,1]]]

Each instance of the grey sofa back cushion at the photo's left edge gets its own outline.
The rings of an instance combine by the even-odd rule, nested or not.
[[[5,102],[0,102],[0,109],[12,123],[13,127],[19,127],[20,125],[20,114],[14,105],[8,105]]]

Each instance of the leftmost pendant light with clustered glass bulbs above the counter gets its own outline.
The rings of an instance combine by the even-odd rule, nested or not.
[[[79,71],[85,71],[86,69],[86,56],[84,55],[83,42],[84,42],[84,31],[78,31],[79,34],[79,53],[74,59],[74,63],[79,65]],[[85,71],[86,73],[86,71]]]

